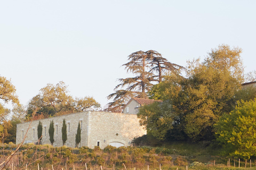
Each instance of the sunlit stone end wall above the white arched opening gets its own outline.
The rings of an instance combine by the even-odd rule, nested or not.
[[[91,112],[89,115],[88,147],[105,148],[110,142],[130,145],[134,137],[146,134],[139,125],[137,115],[123,113]],[[99,142],[99,143],[98,143]]]

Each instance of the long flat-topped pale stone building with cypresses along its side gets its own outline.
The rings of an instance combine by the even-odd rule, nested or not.
[[[87,111],[44,118],[31,122],[31,125],[30,122],[17,124],[16,143],[21,143],[24,138],[26,138],[25,143],[37,142],[37,125],[41,121],[43,124],[42,144],[50,144],[49,126],[53,120],[53,146],[62,146],[61,129],[63,119],[65,119],[67,124],[68,139],[65,145],[68,147],[75,147],[78,123],[81,124],[81,143],[79,143],[79,147],[87,146],[94,148],[94,146],[99,146],[100,148],[105,148],[107,145],[116,147],[129,146],[133,138],[146,134],[146,130],[139,125],[139,120],[135,114]]]

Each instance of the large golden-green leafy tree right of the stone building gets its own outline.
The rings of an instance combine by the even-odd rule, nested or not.
[[[212,49],[203,62],[199,59],[188,62],[186,79],[171,74],[152,88],[149,92],[151,98],[167,100],[171,105],[169,112],[163,110],[169,116],[160,114],[158,117],[172,117],[169,122],[172,129],[171,126],[166,129],[163,126],[165,132],[170,132],[170,137],[194,142],[214,139],[213,124],[221,115],[235,108],[235,96],[241,89],[241,52],[239,48],[231,49],[227,45],[220,45],[217,49]],[[148,114],[148,120],[151,120],[152,115],[157,116],[157,111]],[[154,119],[154,124],[157,124],[158,119]],[[153,126],[150,132],[156,137],[165,137],[164,133],[158,133],[158,128]]]

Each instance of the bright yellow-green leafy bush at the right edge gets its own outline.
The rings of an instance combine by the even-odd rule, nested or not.
[[[222,115],[215,125],[223,153],[250,159],[256,153],[256,101],[241,101],[234,111]]]

